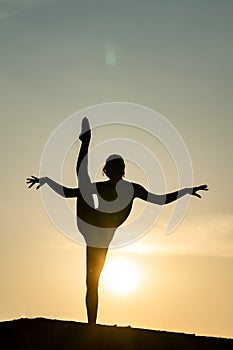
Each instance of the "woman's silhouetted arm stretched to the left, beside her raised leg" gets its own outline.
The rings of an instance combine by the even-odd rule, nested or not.
[[[41,186],[47,184],[49,187],[52,188],[52,190],[54,190],[57,194],[59,194],[62,197],[65,197],[65,198],[78,197],[78,188],[69,188],[66,186],[62,186],[47,176],[41,177],[41,178],[38,178],[36,176],[31,176],[30,178],[27,178],[26,182],[29,185],[28,188],[31,188],[36,183],[38,183],[36,187],[36,189],[38,190]]]

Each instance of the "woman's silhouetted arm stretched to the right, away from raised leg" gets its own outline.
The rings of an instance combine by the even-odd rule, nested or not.
[[[185,196],[186,194],[190,194],[192,196],[201,198],[201,195],[197,192],[208,191],[207,185],[183,188],[181,190],[171,192],[171,193],[166,193],[166,194],[155,194],[155,193],[148,192],[144,187],[138,184],[134,185],[134,189],[135,189],[135,197],[140,198],[149,203],[158,204],[158,205],[164,205],[164,204],[174,202],[177,199]]]

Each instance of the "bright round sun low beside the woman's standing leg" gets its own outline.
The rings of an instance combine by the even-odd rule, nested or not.
[[[134,262],[115,258],[106,262],[102,273],[104,285],[115,294],[127,294],[137,288],[140,273]]]

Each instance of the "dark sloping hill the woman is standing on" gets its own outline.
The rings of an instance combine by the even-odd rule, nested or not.
[[[35,318],[1,322],[0,349],[232,350],[233,339]]]

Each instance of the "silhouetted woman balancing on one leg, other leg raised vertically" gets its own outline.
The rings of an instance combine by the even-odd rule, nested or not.
[[[28,187],[38,183],[36,189],[48,184],[57,194],[65,198],[77,198],[77,225],[86,241],[86,308],[88,322],[96,323],[98,310],[98,283],[103,269],[109,244],[116,229],[127,219],[133,201],[140,198],[144,201],[164,205],[171,203],[186,194],[201,198],[197,192],[207,191],[207,185],[184,188],[168,194],[157,195],[148,192],[139,184],[123,180],[125,163],[120,155],[107,158],[103,168],[107,181],[92,183],[88,174],[88,148],[91,140],[89,121],[84,118],[79,136],[81,148],[77,159],[76,173],[78,188],[68,188],[48,177],[27,178]],[[98,200],[95,206],[93,194]]]

